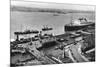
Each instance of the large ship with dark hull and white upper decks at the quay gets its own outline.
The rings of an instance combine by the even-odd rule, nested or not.
[[[79,18],[78,20],[72,21],[70,24],[66,24],[65,31],[77,31],[88,26],[95,26],[95,23],[88,22],[86,18]]]

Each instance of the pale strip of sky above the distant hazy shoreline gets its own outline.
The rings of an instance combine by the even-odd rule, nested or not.
[[[11,6],[38,7],[38,8],[55,8],[55,9],[72,9],[82,11],[95,11],[93,5],[78,5],[78,4],[62,4],[62,3],[45,3],[32,2],[32,0],[11,0]]]

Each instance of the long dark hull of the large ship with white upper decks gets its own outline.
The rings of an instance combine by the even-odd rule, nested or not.
[[[70,25],[65,25],[65,31],[77,31],[77,30],[81,30],[84,29],[88,26],[95,26],[95,23],[91,23],[91,24],[86,24],[86,25],[75,25],[75,26],[70,26]]]

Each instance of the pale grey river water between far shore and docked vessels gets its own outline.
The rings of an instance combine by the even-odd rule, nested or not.
[[[43,25],[53,27],[50,32],[55,35],[62,34],[64,33],[64,25],[71,22],[71,17],[73,19],[79,17],[86,17],[88,20],[95,19],[94,14],[91,13],[69,13],[54,16],[53,13],[11,11],[11,39],[15,38],[15,31],[41,30]]]

